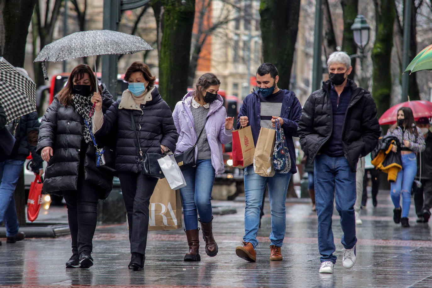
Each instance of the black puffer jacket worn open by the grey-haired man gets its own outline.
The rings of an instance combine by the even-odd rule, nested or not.
[[[349,167],[355,172],[359,157],[367,155],[377,145],[380,130],[371,93],[357,87],[351,79],[348,79],[348,85],[351,87],[351,100],[342,127],[342,145]],[[323,82],[322,89],[309,96],[300,117],[300,144],[311,161],[330,138],[333,130],[330,87],[329,80]]]

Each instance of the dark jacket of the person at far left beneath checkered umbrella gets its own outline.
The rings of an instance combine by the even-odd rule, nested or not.
[[[32,171],[35,173],[38,173],[39,169],[42,169],[43,160],[41,155],[36,153],[36,146],[30,145],[29,133],[31,131],[38,132],[40,125],[38,117],[39,115],[37,112],[32,112],[19,118],[15,133],[15,145],[13,146],[12,154],[9,156],[9,159],[24,161],[25,158],[29,156],[29,153],[32,152],[33,160],[31,167]],[[14,124],[12,123],[12,125]],[[35,145],[35,143],[33,143],[33,145]]]

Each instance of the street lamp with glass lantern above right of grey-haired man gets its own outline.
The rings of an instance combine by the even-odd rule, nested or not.
[[[359,85],[364,88],[368,89],[368,81],[365,77],[365,68],[363,67],[363,59],[366,57],[364,51],[365,47],[369,42],[369,30],[370,26],[368,25],[368,22],[366,22],[366,19],[363,15],[357,15],[356,19],[354,20],[354,24],[351,25],[351,30],[353,31],[354,36],[354,42],[356,43],[357,48],[359,49],[359,53],[350,55],[351,59],[359,58],[360,59],[360,67],[361,67],[361,73],[359,78]]]

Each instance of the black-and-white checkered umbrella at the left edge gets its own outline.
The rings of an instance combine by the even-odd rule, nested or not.
[[[36,84],[0,57],[0,104],[7,122],[36,111]]]

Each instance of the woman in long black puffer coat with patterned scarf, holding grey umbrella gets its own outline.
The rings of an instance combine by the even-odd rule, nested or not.
[[[48,162],[42,193],[62,194],[67,206],[72,256],[66,268],[93,265],[90,254],[98,199],[105,199],[112,188],[111,172],[96,167],[89,129],[92,95],[103,99],[104,111],[113,102],[104,86],[96,86],[95,74],[88,65],[76,66],[42,117],[39,129],[37,150]],[[96,140],[102,145],[101,139]]]

